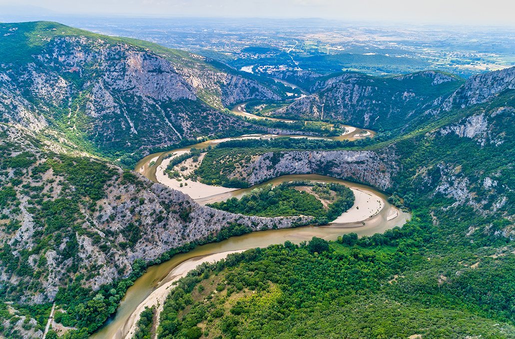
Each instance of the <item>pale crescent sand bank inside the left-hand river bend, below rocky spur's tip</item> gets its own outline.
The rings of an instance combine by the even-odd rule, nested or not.
[[[177,157],[179,155],[182,155],[184,153],[190,152],[188,150],[179,150],[177,152],[173,153],[173,156],[171,158],[163,160],[161,165],[157,168],[156,171],[156,178],[158,179],[158,182],[162,183],[163,185],[166,185],[170,187],[171,189],[181,191],[182,193],[185,193],[192,197],[192,199],[201,199],[201,198],[207,198],[212,195],[222,194],[234,191],[236,189],[228,189],[227,187],[222,186],[211,186],[206,185],[198,181],[193,181],[190,179],[180,179],[181,181],[177,180],[176,178],[170,179],[168,175],[164,173],[164,170],[166,170],[166,166],[170,163],[171,159],[174,157]],[[187,183],[187,185],[186,185]],[[181,187],[182,184],[182,187]]]

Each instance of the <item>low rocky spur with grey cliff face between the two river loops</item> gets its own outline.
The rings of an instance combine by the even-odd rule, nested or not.
[[[247,148],[213,149],[204,157],[197,173],[209,182],[218,179],[213,172],[221,169],[220,178],[241,180],[249,185],[284,174],[321,174],[365,182],[386,190],[393,184],[391,177],[399,171],[394,147],[381,152],[330,149],[255,151]]]

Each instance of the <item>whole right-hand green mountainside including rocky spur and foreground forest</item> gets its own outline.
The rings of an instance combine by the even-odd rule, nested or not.
[[[230,158],[241,169],[233,176],[251,183],[312,171],[383,183],[413,218],[384,234],[313,238],[300,247],[287,241],[201,267],[169,296],[160,316],[171,320],[160,324],[158,338],[195,331],[209,338],[512,338],[509,74],[468,82],[462,92],[472,99],[448,117],[368,150],[313,140],[260,142],[250,160],[250,141],[211,150],[209,167]],[[358,168],[365,175],[356,175]],[[200,173],[215,178],[214,171]]]

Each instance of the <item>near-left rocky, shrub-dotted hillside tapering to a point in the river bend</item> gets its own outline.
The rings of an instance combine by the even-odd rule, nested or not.
[[[246,217],[203,207],[108,163],[48,152],[33,135],[5,124],[0,124],[0,149],[2,294],[23,305],[56,300],[63,309],[72,307],[68,313],[79,319],[78,328],[90,332],[116,309],[130,286],[121,282],[138,277],[146,262],[166,260],[195,244],[312,220]],[[80,303],[58,293],[72,285],[70,293],[80,303],[99,289],[116,292],[102,305],[74,311]],[[81,312],[91,316],[83,318]],[[38,319],[39,327],[44,321]]]

